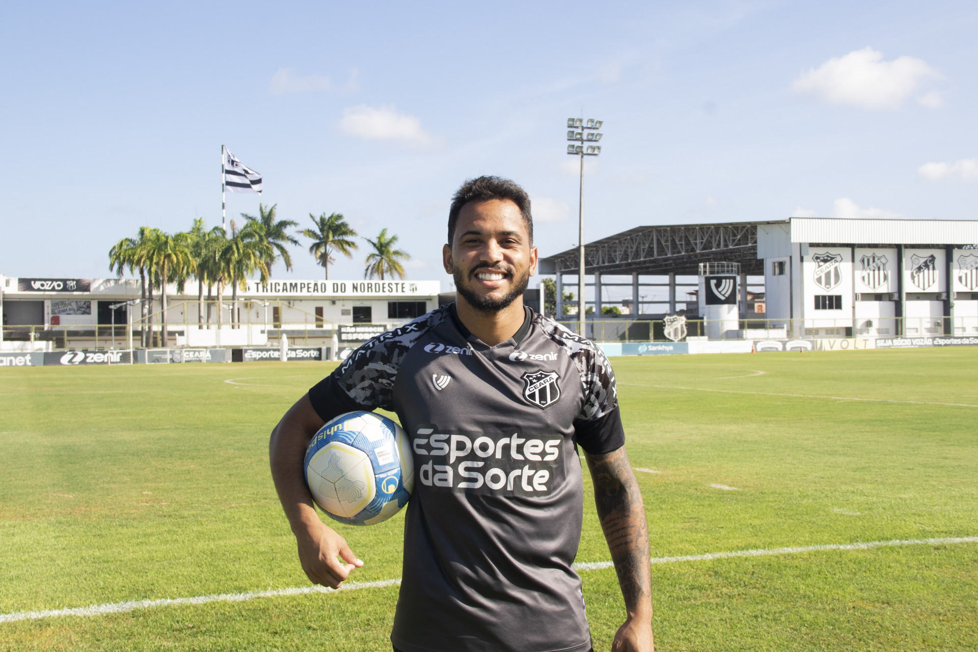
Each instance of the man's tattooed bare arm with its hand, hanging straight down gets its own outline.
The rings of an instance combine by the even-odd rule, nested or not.
[[[628,619],[615,633],[614,652],[652,652],[652,580],[648,526],[639,483],[625,447],[603,455],[587,454],[595,483],[595,503]]]

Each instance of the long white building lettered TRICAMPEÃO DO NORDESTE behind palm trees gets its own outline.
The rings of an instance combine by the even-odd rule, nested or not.
[[[183,291],[170,284],[161,341],[159,291],[145,302],[144,318],[139,280],[0,277],[3,348],[234,349],[279,346],[285,335],[334,358],[433,310],[439,288],[438,281],[248,281],[237,297],[224,288],[218,303],[206,290],[200,300],[197,283]],[[144,331],[154,333],[152,342],[141,342]]]

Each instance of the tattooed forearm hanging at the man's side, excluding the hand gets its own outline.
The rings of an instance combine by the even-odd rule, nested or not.
[[[595,502],[604,539],[629,614],[651,600],[648,525],[642,492],[628,463],[625,448],[604,455],[587,455],[595,484]]]

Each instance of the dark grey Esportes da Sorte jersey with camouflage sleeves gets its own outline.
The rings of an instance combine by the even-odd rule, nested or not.
[[[591,648],[571,568],[583,513],[575,444],[624,444],[614,374],[594,343],[527,309],[519,332],[489,347],[449,306],[368,341],[309,397],[327,420],[397,413],[412,440],[395,647]]]

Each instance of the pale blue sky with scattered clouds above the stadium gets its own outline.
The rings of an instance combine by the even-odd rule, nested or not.
[[[229,11],[233,9],[233,11]],[[566,118],[605,121],[586,240],[791,214],[973,219],[978,5],[966,2],[22,3],[0,22],[10,276],[108,276],[140,225],[220,223],[220,146],[258,201],[387,227],[413,279],[449,198],[500,174],[543,255],[577,240]],[[362,278],[364,246],[333,278]],[[304,249],[275,276],[321,278]]]

